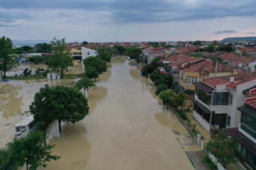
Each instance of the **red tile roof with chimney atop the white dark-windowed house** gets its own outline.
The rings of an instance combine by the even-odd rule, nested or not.
[[[230,83],[230,76],[234,76],[234,82]],[[207,77],[203,79],[203,83],[210,85],[211,87],[216,88],[216,85],[224,85],[230,89],[235,89],[237,85],[242,83],[246,83],[249,81],[256,80],[256,72],[254,73],[244,73],[244,74],[237,74],[237,75],[226,75],[220,77]]]

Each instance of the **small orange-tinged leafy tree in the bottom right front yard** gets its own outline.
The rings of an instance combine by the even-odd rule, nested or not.
[[[226,130],[218,130],[218,134],[212,134],[211,139],[206,144],[209,150],[226,168],[227,164],[236,163],[236,153],[238,148],[238,139],[231,136]]]

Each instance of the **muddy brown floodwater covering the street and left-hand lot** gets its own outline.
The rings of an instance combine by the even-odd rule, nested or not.
[[[65,81],[77,79],[0,82],[0,144],[11,141],[13,126],[29,114],[40,87],[70,83]],[[47,143],[56,144],[53,154],[61,158],[45,169],[194,170],[178,140],[188,132],[154,91],[132,61],[113,57],[86,93],[89,115],[79,123],[62,123],[61,133],[57,122],[48,128]]]

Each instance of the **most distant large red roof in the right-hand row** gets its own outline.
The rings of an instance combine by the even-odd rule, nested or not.
[[[205,55],[207,53],[210,53],[210,51],[207,51],[202,48],[202,46],[191,46],[191,47],[181,47],[181,48],[176,48],[174,50],[175,52],[182,52],[188,55]]]

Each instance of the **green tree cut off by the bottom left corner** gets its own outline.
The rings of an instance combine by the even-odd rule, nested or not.
[[[18,170],[18,163],[11,158],[13,154],[10,147],[0,148],[0,170]]]

